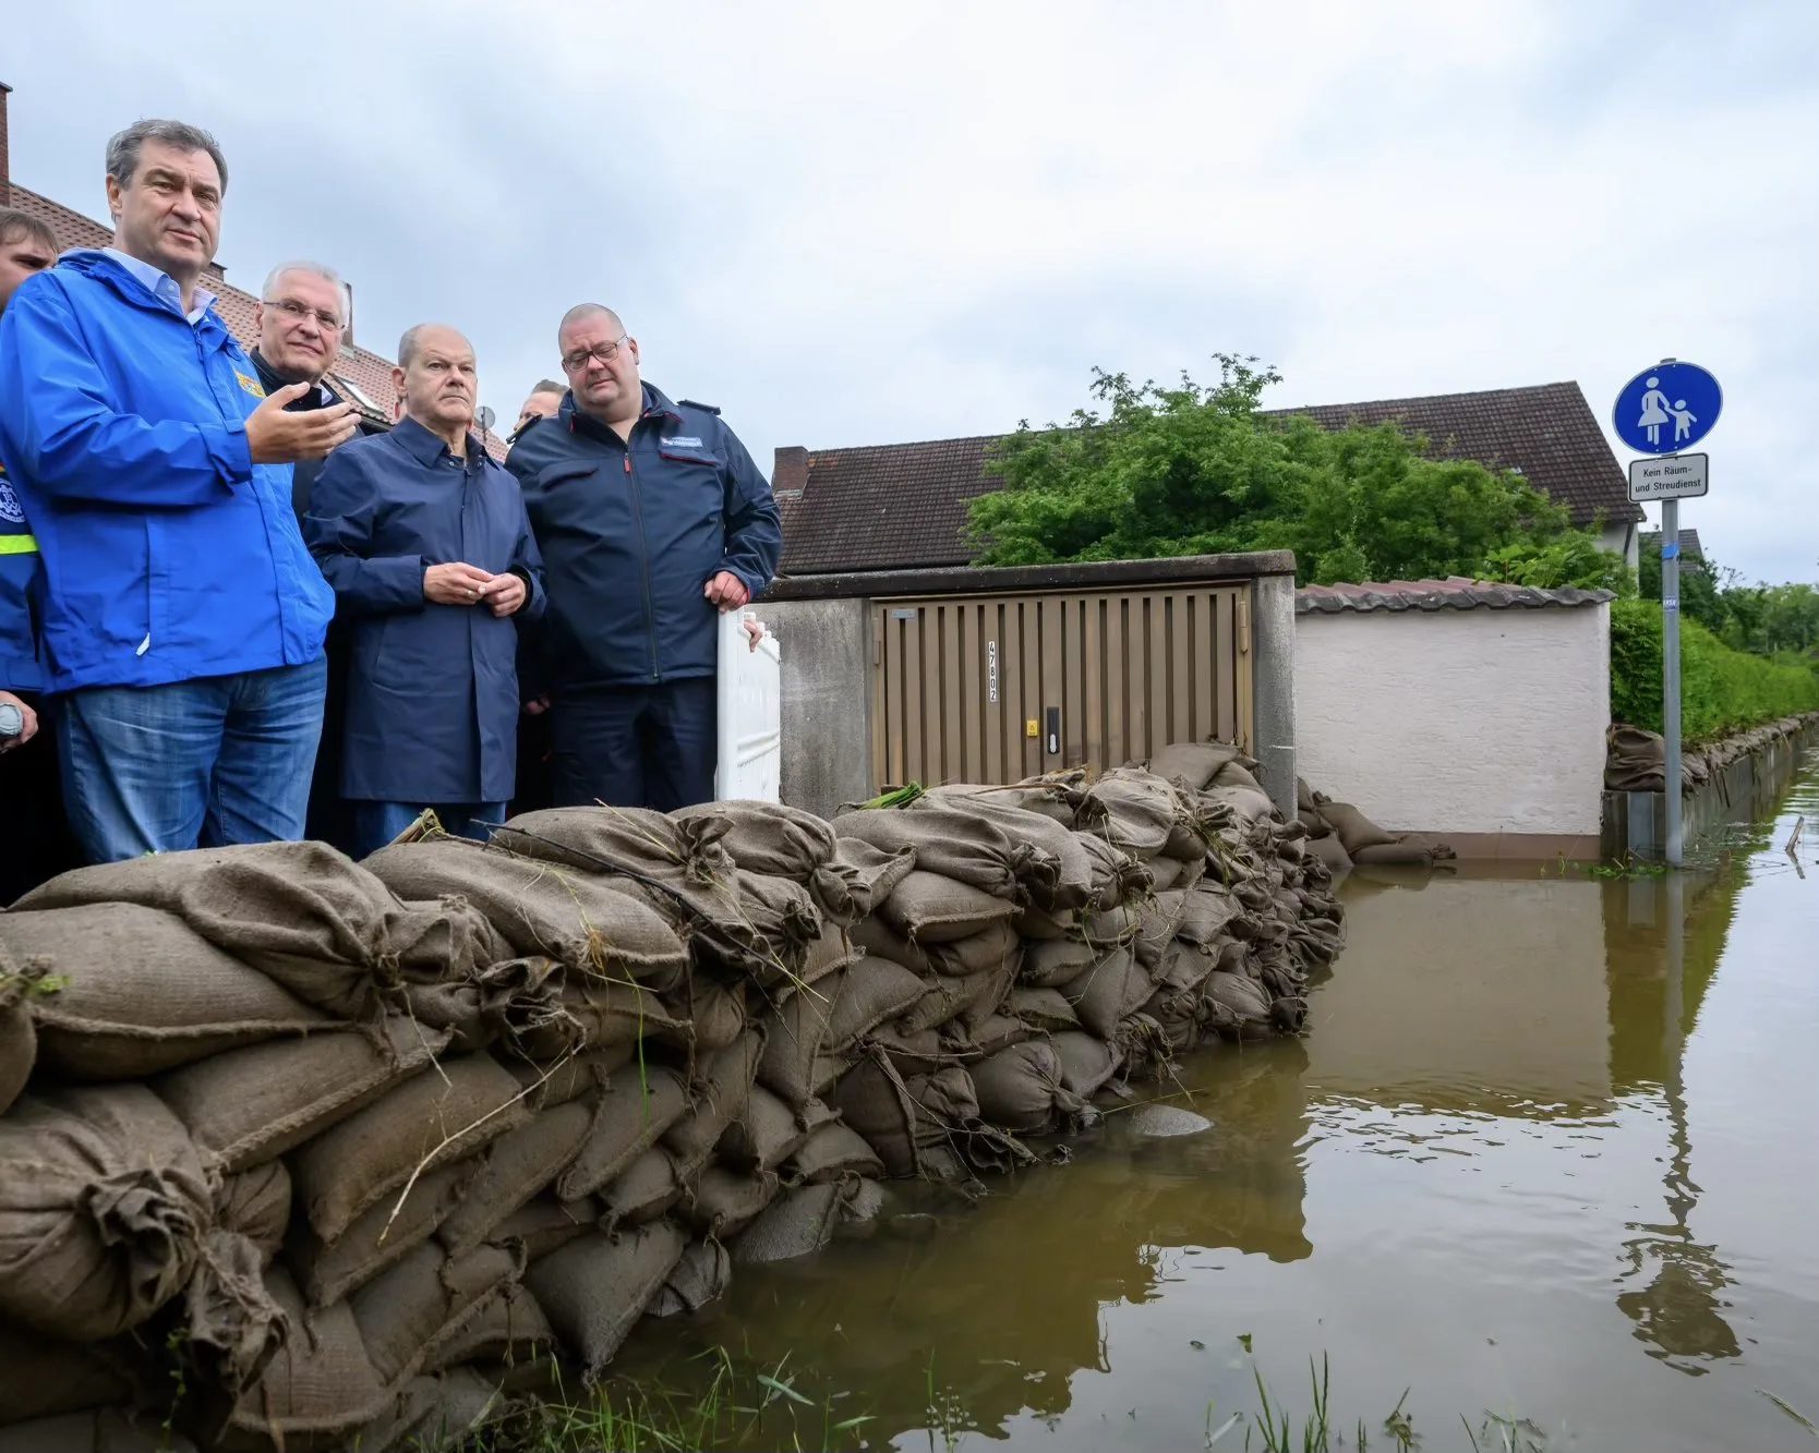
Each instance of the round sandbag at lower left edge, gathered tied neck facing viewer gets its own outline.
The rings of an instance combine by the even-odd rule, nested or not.
[[[144,1086],[45,1089],[0,1118],[0,1318],[100,1342],[196,1268],[215,1197],[182,1122]]]

